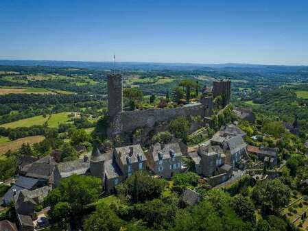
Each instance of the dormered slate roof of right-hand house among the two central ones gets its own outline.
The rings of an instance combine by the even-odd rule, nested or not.
[[[152,157],[154,161],[158,161],[160,160],[159,155],[163,154],[162,159],[169,159],[171,158],[171,153],[174,154],[174,157],[182,156],[179,143],[167,143],[163,148],[160,143],[156,143],[153,146]]]

